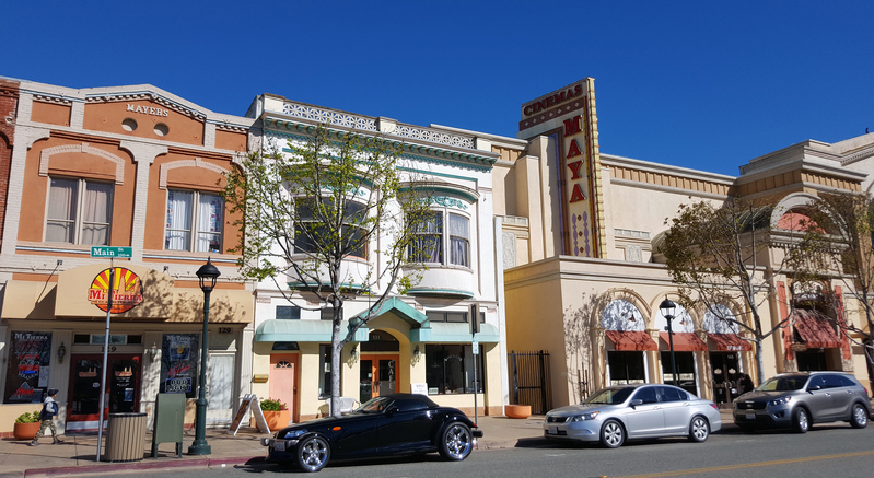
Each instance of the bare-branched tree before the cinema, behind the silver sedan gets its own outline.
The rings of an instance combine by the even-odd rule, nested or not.
[[[703,303],[720,320],[748,333],[756,345],[758,380],[765,377],[762,342],[786,323],[764,322],[760,313],[776,292],[774,279],[786,272],[790,263],[784,254],[771,254],[784,247],[771,229],[772,211],[769,205],[738,198],[721,206],[681,205],[677,215],[665,221],[668,230],[659,246],[683,306],[692,310]],[[716,307],[730,302],[743,304],[748,320]]]

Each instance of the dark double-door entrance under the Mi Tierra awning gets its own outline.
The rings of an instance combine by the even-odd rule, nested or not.
[[[141,360],[140,355],[109,354],[104,420],[108,413],[140,410]],[[74,354],[71,361],[67,430],[96,430],[100,422],[103,355]]]

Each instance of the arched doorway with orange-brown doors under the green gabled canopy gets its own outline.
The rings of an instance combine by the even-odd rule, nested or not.
[[[361,342],[360,392],[363,404],[373,397],[399,392],[400,342],[385,330],[371,330],[368,341]]]

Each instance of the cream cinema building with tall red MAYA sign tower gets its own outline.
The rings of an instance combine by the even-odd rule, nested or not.
[[[659,241],[680,205],[761,200],[772,206],[773,234],[789,236],[789,218],[803,213],[818,191],[867,191],[874,164],[874,135],[836,144],[806,141],[750,161],[736,177],[604,154],[592,79],[525,103],[517,137],[504,141],[494,167],[508,348],[548,351],[551,374],[544,377],[547,404],[524,394],[511,401],[544,409],[611,384],[673,383],[671,338],[659,305],[677,294]],[[771,249],[766,267],[781,254]],[[766,374],[841,370],[867,384],[861,348],[836,326],[842,314],[860,310],[847,285],[838,278],[820,285],[842,304],[830,312],[792,312],[791,277],[778,276],[776,285],[777,293],[759,298],[764,326],[790,320],[766,339]],[[755,376],[750,337],[718,318],[747,320],[749,311],[734,302],[718,307],[676,313],[677,385],[727,404],[741,392],[742,374],[757,383],[766,377]]]

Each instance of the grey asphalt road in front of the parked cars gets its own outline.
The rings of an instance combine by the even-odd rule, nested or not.
[[[132,475],[178,477],[183,470]],[[184,470],[191,478],[279,478],[304,476],[273,465]],[[131,476],[131,475],[128,475]],[[529,440],[516,448],[475,451],[463,463],[438,455],[328,465],[328,477],[865,477],[874,476],[874,427],[819,425],[800,435],[738,432],[711,435],[706,443],[680,439],[629,442],[618,450],[562,446]]]

